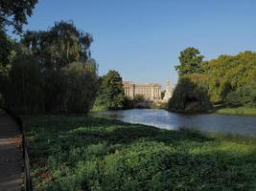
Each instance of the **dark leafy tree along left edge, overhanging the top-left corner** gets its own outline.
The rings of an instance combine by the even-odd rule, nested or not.
[[[11,64],[12,40],[6,34],[7,27],[13,32],[21,33],[22,26],[27,24],[27,17],[31,16],[37,0],[8,1],[0,0],[0,105],[6,106],[4,96],[9,84],[9,70]]]

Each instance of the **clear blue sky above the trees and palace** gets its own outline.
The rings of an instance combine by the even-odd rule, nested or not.
[[[100,74],[117,70],[138,83],[176,83],[178,54],[205,59],[256,51],[256,0],[39,0],[25,30],[73,20],[94,42]]]

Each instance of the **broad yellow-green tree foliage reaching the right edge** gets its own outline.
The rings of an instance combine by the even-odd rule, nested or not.
[[[225,102],[225,96],[228,93],[233,91],[242,93],[243,91],[239,90],[242,88],[249,92],[255,92],[256,53],[221,55],[217,59],[203,62],[201,68],[204,71],[203,74],[207,76],[204,83],[208,86],[213,102]],[[246,102],[255,104],[256,99],[252,95],[250,101],[243,100],[243,105],[246,105]]]

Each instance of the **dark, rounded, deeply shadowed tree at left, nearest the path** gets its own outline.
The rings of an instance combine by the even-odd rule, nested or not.
[[[19,53],[12,62],[9,77],[4,92],[8,107],[23,114],[43,112],[43,78],[35,57],[30,53]]]

